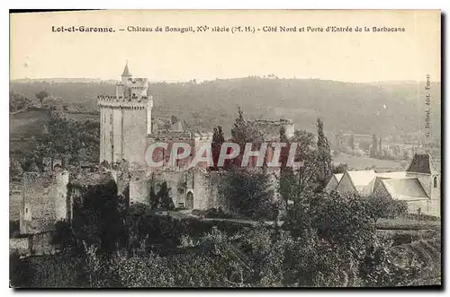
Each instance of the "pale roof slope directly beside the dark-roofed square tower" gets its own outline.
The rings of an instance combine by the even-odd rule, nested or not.
[[[394,199],[414,200],[428,198],[419,179],[383,179],[384,188]]]

